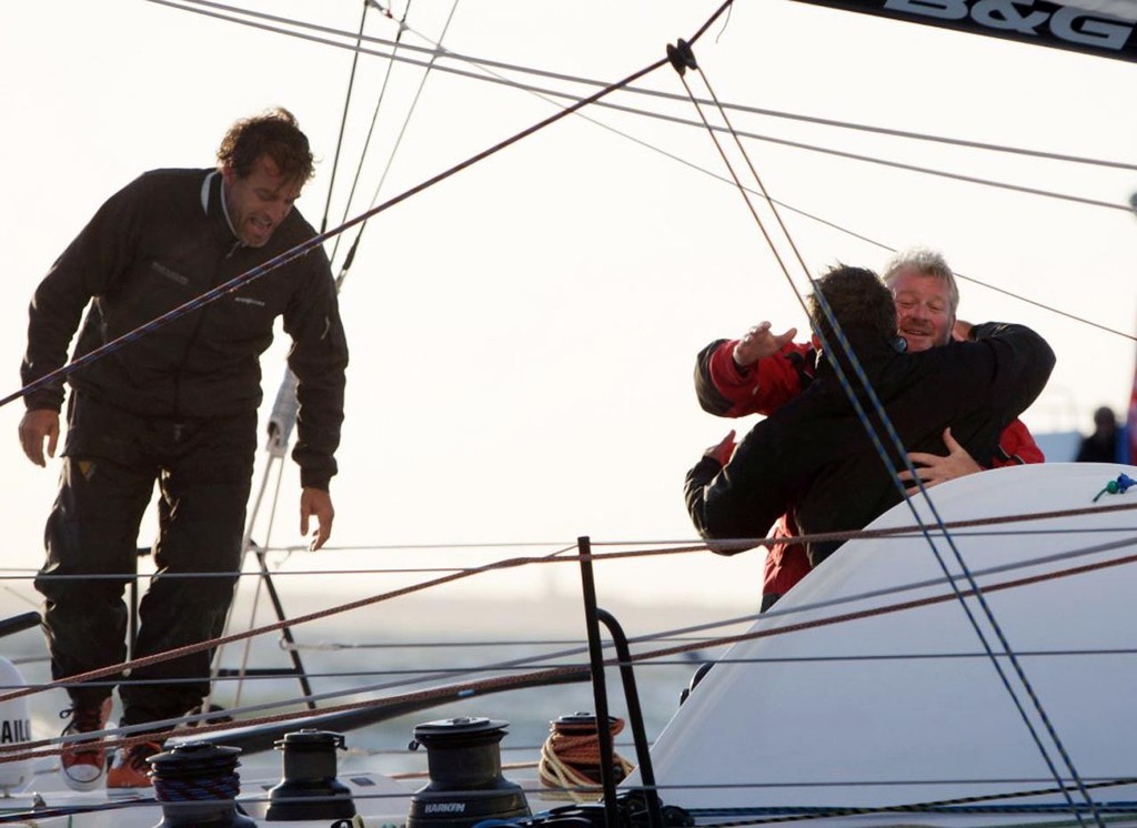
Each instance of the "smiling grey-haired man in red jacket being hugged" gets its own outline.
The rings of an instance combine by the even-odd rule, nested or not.
[[[926,351],[945,345],[952,338],[970,338],[971,325],[956,319],[960,291],[952,268],[944,257],[924,248],[898,253],[888,264],[885,284],[896,303],[897,333],[908,351]],[[695,390],[699,404],[720,417],[770,415],[792,400],[813,382],[818,350],[814,343],[797,343],[796,328],[775,335],[770,323],[761,323],[738,340],[716,340],[704,348],[696,361]],[[962,477],[982,468],[1044,460],[1043,452],[1021,420],[1003,432],[996,454],[980,466],[952,437],[944,433],[946,455],[916,452],[910,454],[919,468],[924,487]],[[907,471],[901,478],[915,484]],[[777,537],[797,535],[792,518],[782,516],[774,527]],[[766,554],[762,585],[765,611],[810,572],[810,560],[800,544],[773,546]]]

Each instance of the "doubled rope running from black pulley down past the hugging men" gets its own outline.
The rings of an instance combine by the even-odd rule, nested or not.
[[[682,48],[683,45],[684,44],[682,42],[680,42],[680,47]],[[674,59],[672,60],[672,65],[675,67],[675,69],[679,73],[680,77],[682,78],[683,77],[682,67]],[[708,78],[706,77],[706,73],[704,73],[698,67],[697,62],[694,59],[694,55],[690,56],[690,61],[689,61],[688,65],[691,68],[696,69],[699,73],[700,77],[703,77],[703,80],[704,80],[704,83],[706,83],[707,90],[709,91],[712,98],[714,98],[714,92],[713,92],[713,90],[711,87]],[[688,89],[688,93],[690,93],[690,87],[687,85],[686,80],[683,80],[683,85],[684,85],[684,87]],[[691,98],[692,98],[692,102],[694,102],[694,95],[691,95]],[[696,108],[698,109],[698,104],[697,103],[696,103]],[[728,128],[733,133],[733,127],[730,124],[729,117],[727,116],[725,111],[723,111],[722,109],[720,109],[720,114],[722,115],[724,122],[728,124]],[[700,116],[700,118],[704,119],[704,122],[706,122],[706,118],[705,118],[705,116],[703,116],[702,110],[699,110],[699,116]],[[736,136],[736,142],[737,142],[737,145],[739,148],[739,151],[747,159],[747,164],[750,166],[750,169],[752,169],[752,173],[753,173],[754,172],[753,164],[750,164],[749,158],[748,158],[748,156],[746,153],[746,150],[742,147],[741,141],[738,140],[737,136]],[[715,144],[717,147],[717,141],[715,141]],[[725,159],[725,153],[722,152],[721,148],[720,148],[720,153],[722,153],[723,158]],[[733,170],[731,170],[731,176],[737,179],[737,176],[735,175]],[[765,194],[765,187],[764,187],[764,185],[761,184],[761,179],[760,179],[760,187],[762,189],[762,192]],[[740,191],[742,192],[744,199],[746,199],[747,204],[749,206],[749,199],[746,196],[745,190],[740,187]],[[767,196],[767,199],[769,199],[769,196]],[[754,215],[755,218],[757,218],[757,214],[756,214],[756,211],[754,211],[753,207],[750,208],[750,210],[752,210],[752,215]],[[778,215],[777,209],[774,209],[774,214]],[[780,221],[780,217],[779,217],[779,221]],[[789,237],[789,233],[786,231],[786,227],[785,227],[783,224],[781,225],[781,227],[782,227],[783,233],[786,233],[787,237]],[[764,227],[763,227],[763,235],[766,237],[766,240],[769,242],[770,241],[770,235],[769,235],[769,233],[766,233],[766,231],[765,231]],[[790,240],[790,244],[794,248],[795,253],[798,253],[797,248],[796,248],[796,245],[792,244],[791,240]],[[778,259],[779,264],[782,265],[783,271],[786,271],[785,265],[782,264],[782,260],[781,260],[781,256],[777,251],[774,251],[774,256]],[[798,253],[798,259],[800,261],[800,254],[799,253]],[[803,262],[803,267],[804,267],[804,262]],[[786,276],[787,276],[787,278],[789,277],[788,271],[786,271]],[[812,282],[812,279],[811,279],[811,282]],[[791,284],[791,287],[794,288],[795,294],[798,298],[799,303],[802,303],[803,307],[804,307],[804,300],[800,296],[800,294],[798,293],[796,286],[792,285],[792,279],[790,279],[790,284]],[[998,638],[998,641],[999,641],[999,643],[1001,643],[1001,645],[1002,645],[1002,647],[1004,650],[1004,654],[1007,656],[1009,661],[1011,662],[1012,667],[1014,668],[1014,671],[1015,671],[1015,674],[1016,674],[1016,676],[1018,676],[1018,678],[1019,678],[1019,680],[1020,680],[1020,683],[1021,683],[1021,685],[1023,687],[1023,691],[1027,693],[1027,695],[1031,700],[1031,702],[1034,704],[1034,708],[1035,708],[1035,711],[1038,713],[1039,719],[1041,720],[1044,727],[1046,728],[1046,731],[1049,735],[1051,741],[1053,742],[1055,750],[1057,750],[1057,752],[1059,752],[1060,756],[1062,758],[1064,764],[1067,766],[1067,769],[1069,770],[1071,777],[1077,783],[1077,786],[1078,786],[1079,791],[1081,792],[1082,797],[1086,800],[1086,803],[1089,806],[1090,812],[1094,814],[1095,821],[1097,822],[1098,826],[1103,826],[1101,814],[1097,811],[1097,808],[1096,808],[1096,805],[1094,803],[1094,800],[1090,797],[1089,792],[1085,788],[1085,785],[1082,784],[1081,778],[1078,775],[1078,771],[1074,768],[1073,762],[1072,762],[1072,760],[1071,760],[1068,751],[1065,750],[1064,744],[1062,743],[1062,739],[1059,737],[1057,731],[1054,729],[1054,726],[1051,722],[1049,717],[1046,714],[1046,711],[1045,711],[1045,709],[1041,705],[1041,701],[1038,699],[1037,694],[1035,693],[1034,686],[1031,685],[1030,680],[1028,679],[1028,677],[1026,675],[1026,671],[1022,669],[1021,663],[1015,658],[1014,652],[1012,651],[1012,649],[1010,646],[1010,642],[1006,639],[1006,636],[1004,635],[1002,627],[999,626],[998,621],[996,620],[994,612],[991,611],[991,609],[990,609],[990,607],[989,607],[986,597],[984,596],[981,589],[979,588],[978,583],[976,582],[976,579],[972,576],[970,569],[968,568],[965,561],[963,560],[962,554],[958,552],[958,549],[956,547],[955,542],[954,542],[952,535],[944,527],[943,518],[939,516],[938,510],[936,509],[935,503],[932,502],[932,500],[928,496],[928,493],[924,490],[924,486],[923,486],[923,483],[920,479],[920,476],[916,474],[916,471],[915,471],[915,469],[914,469],[911,460],[907,457],[906,451],[904,450],[904,445],[903,445],[902,441],[899,440],[899,435],[896,433],[895,428],[893,427],[890,418],[888,417],[887,412],[885,411],[885,408],[881,404],[880,399],[878,398],[874,388],[872,387],[871,383],[869,382],[868,376],[864,374],[863,366],[861,365],[861,362],[857,359],[856,354],[853,352],[853,348],[852,348],[850,343],[848,342],[847,337],[845,336],[845,332],[843,331],[841,326],[837,321],[837,318],[835,317],[835,315],[832,312],[832,309],[829,307],[829,303],[825,300],[823,293],[821,291],[816,291],[815,290],[814,291],[814,296],[816,299],[819,308],[821,309],[821,311],[824,315],[827,321],[829,323],[829,325],[832,328],[833,336],[838,341],[838,344],[840,345],[843,354],[849,361],[849,366],[853,369],[854,375],[856,376],[856,378],[857,378],[858,383],[861,384],[861,386],[864,388],[865,394],[869,398],[870,404],[873,408],[873,412],[879,418],[880,425],[883,428],[885,433],[887,434],[889,442],[891,443],[893,448],[897,452],[897,455],[903,459],[905,467],[912,474],[912,478],[916,482],[918,488],[923,494],[924,500],[928,503],[928,507],[929,507],[929,509],[932,512],[932,517],[935,518],[935,521],[936,521],[936,524],[939,527],[939,530],[943,532],[943,534],[944,534],[944,540],[947,542],[948,547],[952,550],[956,563],[960,566],[963,576],[966,578],[968,584],[971,587],[972,594],[976,596],[976,600],[979,602],[980,607],[982,608],[984,614],[987,618],[988,624],[991,626],[993,632],[995,633],[996,637]],[[939,563],[941,570],[944,571],[945,577],[948,579],[948,582],[949,582],[949,584],[952,586],[953,592],[955,592],[956,597],[958,600],[958,603],[960,603],[961,608],[964,610],[964,612],[966,613],[968,619],[971,622],[971,626],[976,630],[976,634],[978,635],[981,644],[984,645],[984,649],[988,652],[988,655],[990,658],[991,664],[995,667],[995,669],[998,672],[1001,679],[1003,680],[1004,687],[1006,688],[1009,695],[1011,696],[1011,699],[1014,702],[1016,709],[1019,710],[1019,713],[1022,717],[1022,720],[1026,724],[1027,729],[1030,731],[1031,737],[1034,738],[1035,744],[1038,747],[1038,750],[1039,750],[1039,752],[1040,752],[1044,761],[1046,762],[1046,764],[1047,764],[1048,769],[1051,770],[1052,775],[1054,776],[1055,780],[1059,781],[1059,784],[1061,784],[1061,775],[1059,773],[1057,768],[1054,766],[1053,761],[1051,760],[1049,752],[1046,750],[1045,745],[1041,742],[1040,736],[1038,735],[1038,733],[1035,729],[1034,724],[1030,721],[1030,717],[1027,714],[1026,709],[1022,706],[1022,703],[1021,703],[1018,694],[1014,692],[1014,688],[1011,685],[1011,681],[1010,681],[1009,677],[1006,676],[1005,671],[1003,670],[1003,668],[1002,668],[1002,666],[1001,666],[1001,663],[998,661],[998,658],[996,656],[994,650],[991,649],[989,642],[987,641],[987,637],[984,634],[982,628],[980,627],[980,625],[978,622],[978,619],[976,619],[973,612],[971,611],[970,607],[968,605],[962,591],[956,585],[954,578],[952,578],[951,571],[949,571],[949,569],[947,567],[947,562],[944,560],[944,557],[940,554],[939,549],[937,547],[935,541],[931,537],[931,534],[928,530],[928,527],[920,519],[920,515],[916,511],[916,509],[915,509],[915,507],[914,507],[914,504],[912,502],[912,499],[908,497],[907,492],[905,491],[903,484],[899,482],[899,479],[898,479],[898,477],[896,475],[897,469],[894,466],[894,463],[891,461],[891,458],[889,457],[888,452],[885,450],[883,445],[881,444],[880,437],[877,435],[874,426],[872,425],[872,423],[869,419],[866,412],[864,411],[864,408],[862,407],[862,404],[861,404],[861,402],[860,402],[860,400],[857,398],[857,394],[856,394],[856,392],[854,391],[854,388],[852,386],[852,383],[849,383],[848,377],[846,376],[843,367],[840,366],[840,361],[838,359],[836,359],[836,353],[832,350],[830,350],[829,343],[827,343],[824,341],[825,337],[822,334],[822,332],[819,329],[816,333],[819,335],[819,338],[821,338],[821,341],[822,341],[822,346],[824,349],[824,352],[827,352],[827,353],[833,353],[835,354],[835,358],[830,359],[830,363],[832,365],[832,367],[835,369],[835,374],[837,375],[838,382],[841,384],[841,387],[844,388],[846,395],[848,396],[848,399],[852,402],[854,409],[856,410],[857,417],[861,419],[862,425],[865,427],[865,429],[866,429],[866,432],[868,432],[868,434],[870,436],[870,440],[872,441],[874,448],[877,449],[877,452],[878,452],[879,457],[885,461],[886,468],[889,470],[889,476],[893,478],[894,483],[896,484],[897,488],[899,490],[902,500],[907,504],[908,509],[912,511],[913,517],[915,518],[915,520],[918,521],[918,524],[920,524],[921,530],[922,530],[926,540],[928,541],[929,547],[931,549],[932,553],[935,554],[936,560]],[[1076,805],[1076,803],[1073,802],[1073,800],[1072,800],[1072,797],[1070,796],[1069,793],[1065,793],[1065,796],[1068,798],[1068,803],[1069,803],[1069,805],[1071,808],[1072,814],[1078,819],[1079,823],[1082,823],[1081,816],[1079,813],[1078,806]]]

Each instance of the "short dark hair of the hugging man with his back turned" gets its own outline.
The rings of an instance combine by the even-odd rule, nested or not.
[[[818,293],[841,331],[857,334],[879,334],[881,340],[896,336],[896,304],[893,294],[872,270],[863,267],[837,265],[813,283],[813,293],[806,299],[813,328],[821,338],[836,346],[833,329],[818,301]]]

